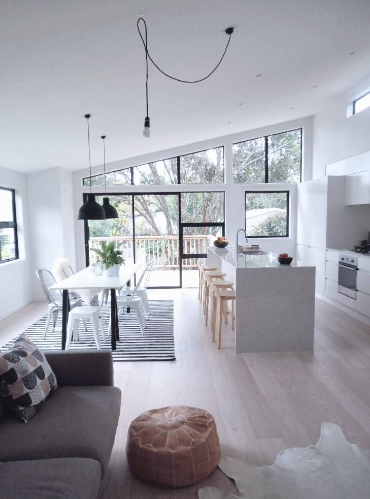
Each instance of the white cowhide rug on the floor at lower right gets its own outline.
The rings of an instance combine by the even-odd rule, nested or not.
[[[370,498],[370,451],[350,444],[334,423],[322,423],[316,445],[286,449],[271,466],[226,457],[219,467],[234,480],[239,495],[205,487],[199,499]]]

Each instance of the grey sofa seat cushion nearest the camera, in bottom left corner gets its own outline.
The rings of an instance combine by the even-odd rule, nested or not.
[[[100,464],[66,458],[0,463],[0,496],[7,499],[96,499]]]

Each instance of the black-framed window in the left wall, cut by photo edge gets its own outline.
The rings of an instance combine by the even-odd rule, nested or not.
[[[0,264],[18,259],[15,191],[0,187]]]

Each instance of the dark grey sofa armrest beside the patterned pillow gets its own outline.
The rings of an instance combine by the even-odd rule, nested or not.
[[[43,352],[59,386],[113,386],[110,350]]]

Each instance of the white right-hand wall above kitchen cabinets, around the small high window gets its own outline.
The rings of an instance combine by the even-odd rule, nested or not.
[[[369,90],[370,75],[341,95],[324,101],[315,114],[313,178],[324,176],[327,164],[370,149],[370,108],[355,115],[350,113],[353,100]]]

